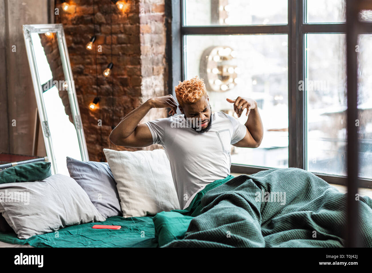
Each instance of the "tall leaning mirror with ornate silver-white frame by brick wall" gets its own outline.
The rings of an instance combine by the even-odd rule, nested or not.
[[[89,160],[62,24],[23,25],[52,174],[69,175],[66,156]]]

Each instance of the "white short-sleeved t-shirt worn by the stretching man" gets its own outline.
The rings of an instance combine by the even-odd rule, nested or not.
[[[184,115],[145,124],[153,144],[162,145],[166,151],[181,208],[201,188],[230,175],[230,144],[243,139],[247,132],[243,124],[224,112],[212,114],[212,126],[206,133],[175,126],[185,124]]]

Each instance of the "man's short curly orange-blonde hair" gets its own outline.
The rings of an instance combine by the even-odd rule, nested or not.
[[[178,103],[183,107],[185,104],[192,104],[199,101],[203,96],[207,95],[203,79],[198,76],[190,80],[179,82],[179,85],[174,87]]]

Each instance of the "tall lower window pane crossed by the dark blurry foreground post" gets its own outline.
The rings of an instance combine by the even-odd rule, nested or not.
[[[372,35],[360,35],[359,176],[372,178]],[[346,55],[344,34],[308,34],[308,170],[346,175]],[[301,90],[301,88],[300,88]]]

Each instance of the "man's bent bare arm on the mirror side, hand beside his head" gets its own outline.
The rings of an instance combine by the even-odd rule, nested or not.
[[[110,141],[125,147],[146,147],[153,144],[150,129],[146,124],[138,124],[151,108],[171,108],[169,114],[176,114],[177,103],[172,95],[147,100],[120,121],[112,130]]]

